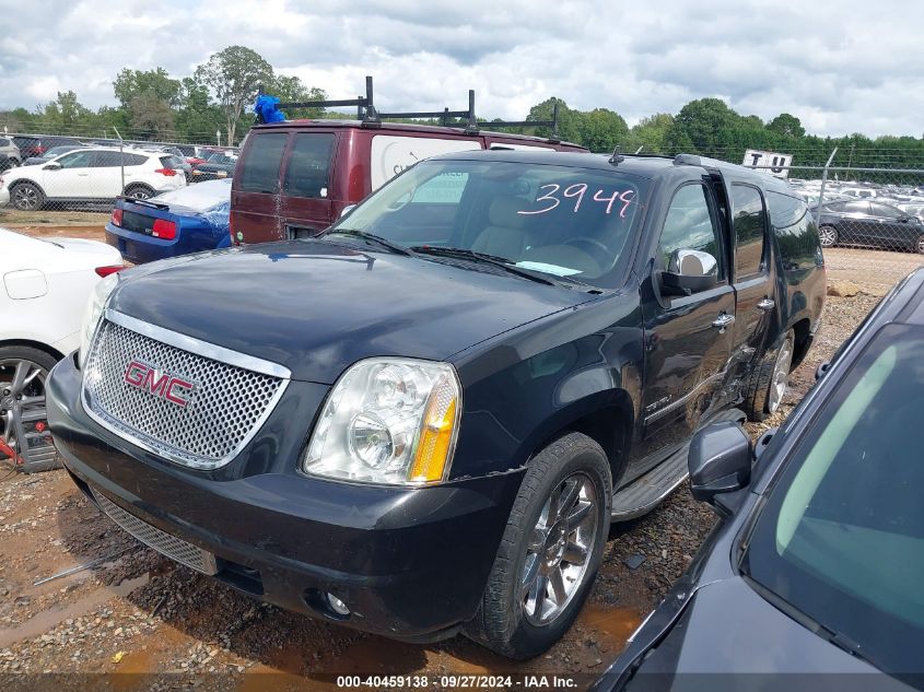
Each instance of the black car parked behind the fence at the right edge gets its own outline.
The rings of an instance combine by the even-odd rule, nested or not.
[[[822,247],[864,245],[924,254],[924,223],[892,204],[862,199],[821,206]]]

